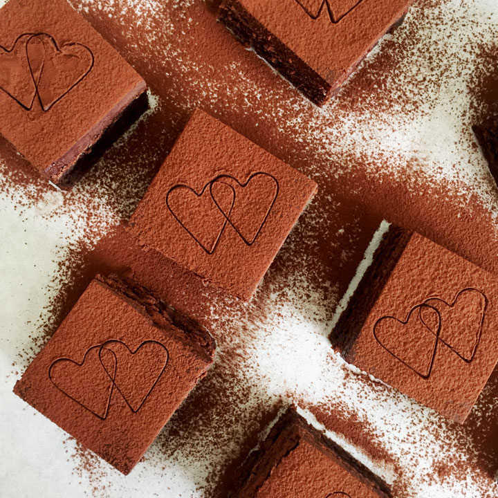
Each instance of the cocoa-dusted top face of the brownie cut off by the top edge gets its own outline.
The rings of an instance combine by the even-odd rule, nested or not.
[[[337,87],[413,0],[225,0]]]

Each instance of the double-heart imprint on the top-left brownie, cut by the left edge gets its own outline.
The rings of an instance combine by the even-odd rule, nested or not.
[[[0,90],[26,111],[38,100],[46,112],[90,73],[93,62],[83,44],[59,46],[48,33],[23,33],[11,48],[0,45]]]

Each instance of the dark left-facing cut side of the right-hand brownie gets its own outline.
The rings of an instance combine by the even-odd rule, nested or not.
[[[341,353],[342,358],[351,362],[350,353],[358,339],[363,324],[374,307],[392,270],[398,263],[403,250],[412,237],[409,230],[394,225],[382,237],[374,253],[374,259],[354,291],[346,309],[329,335],[332,347]]]

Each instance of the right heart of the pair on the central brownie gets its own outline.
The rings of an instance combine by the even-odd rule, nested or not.
[[[225,201],[234,192],[234,202]],[[252,174],[244,183],[229,175],[221,175],[210,183],[210,192],[216,208],[239,234],[252,246],[277,201],[279,183],[275,176],[264,172]]]

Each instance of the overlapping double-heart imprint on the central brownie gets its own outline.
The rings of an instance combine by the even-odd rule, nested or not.
[[[275,176],[257,172],[240,182],[230,175],[216,176],[200,192],[188,185],[174,185],[166,205],[174,219],[208,254],[212,255],[230,225],[246,246],[252,246],[277,201]]]

